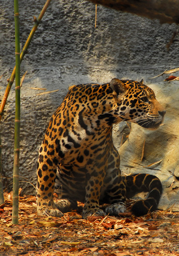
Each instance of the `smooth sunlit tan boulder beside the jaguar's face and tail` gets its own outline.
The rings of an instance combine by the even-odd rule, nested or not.
[[[162,181],[164,188],[159,207],[179,210],[179,86],[149,84],[156,98],[166,108],[165,121],[156,131],[121,122],[113,128],[113,139],[121,156],[125,174],[150,173]],[[130,125],[130,128],[129,128]],[[120,143],[120,144],[119,144]]]

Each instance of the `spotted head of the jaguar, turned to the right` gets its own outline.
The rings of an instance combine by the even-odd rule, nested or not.
[[[151,88],[137,81],[119,79],[112,79],[110,87],[118,106],[118,118],[152,130],[162,124],[166,111]]]

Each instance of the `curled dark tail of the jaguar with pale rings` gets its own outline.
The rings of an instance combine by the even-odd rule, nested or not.
[[[132,174],[122,177],[126,186],[126,197],[132,198],[136,193],[149,192],[144,200],[136,201],[132,206],[132,212],[136,216],[145,215],[155,211],[162,194],[162,183],[150,174]]]

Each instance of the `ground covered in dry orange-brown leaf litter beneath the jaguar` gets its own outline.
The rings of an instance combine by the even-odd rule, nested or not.
[[[0,205],[0,256],[179,256],[179,212],[141,218],[81,218],[82,204],[62,218],[37,216],[34,196],[20,196],[19,225],[11,223],[12,193]]]

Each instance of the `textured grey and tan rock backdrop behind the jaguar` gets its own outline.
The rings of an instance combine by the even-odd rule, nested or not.
[[[45,1],[20,1],[20,38],[22,47]],[[149,79],[166,69],[176,67],[179,59],[179,37],[170,48],[175,24],[161,25],[135,15],[99,6],[97,28],[95,5],[88,1],[51,2],[42,23],[21,64],[27,70],[21,89],[21,147],[20,176],[35,185],[38,149],[43,140],[51,114],[62,102],[71,84],[82,82],[105,83],[112,78],[126,78],[150,84],[157,99],[166,106],[165,125],[157,131],[145,131],[132,124],[132,131],[120,147],[122,134],[129,133],[125,123],[114,129],[114,142],[121,155],[124,173],[149,172],[163,183],[160,207],[179,209],[179,82],[164,82],[166,76]],[[0,99],[14,67],[14,14],[11,3],[0,1]],[[151,84],[152,83],[152,84]],[[56,93],[37,96],[31,87],[59,89]],[[12,177],[14,154],[14,85],[0,124],[3,144],[3,175]],[[121,132],[119,134],[119,132]],[[141,162],[145,139],[144,158]],[[162,160],[159,164],[148,166]],[[176,177],[175,177],[176,176]],[[25,180],[21,178],[21,180]],[[4,186],[11,188],[11,179]],[[27,181],[27,180],[25,180]],[[23,193],[34,193],[29,183],[20,183]]]

